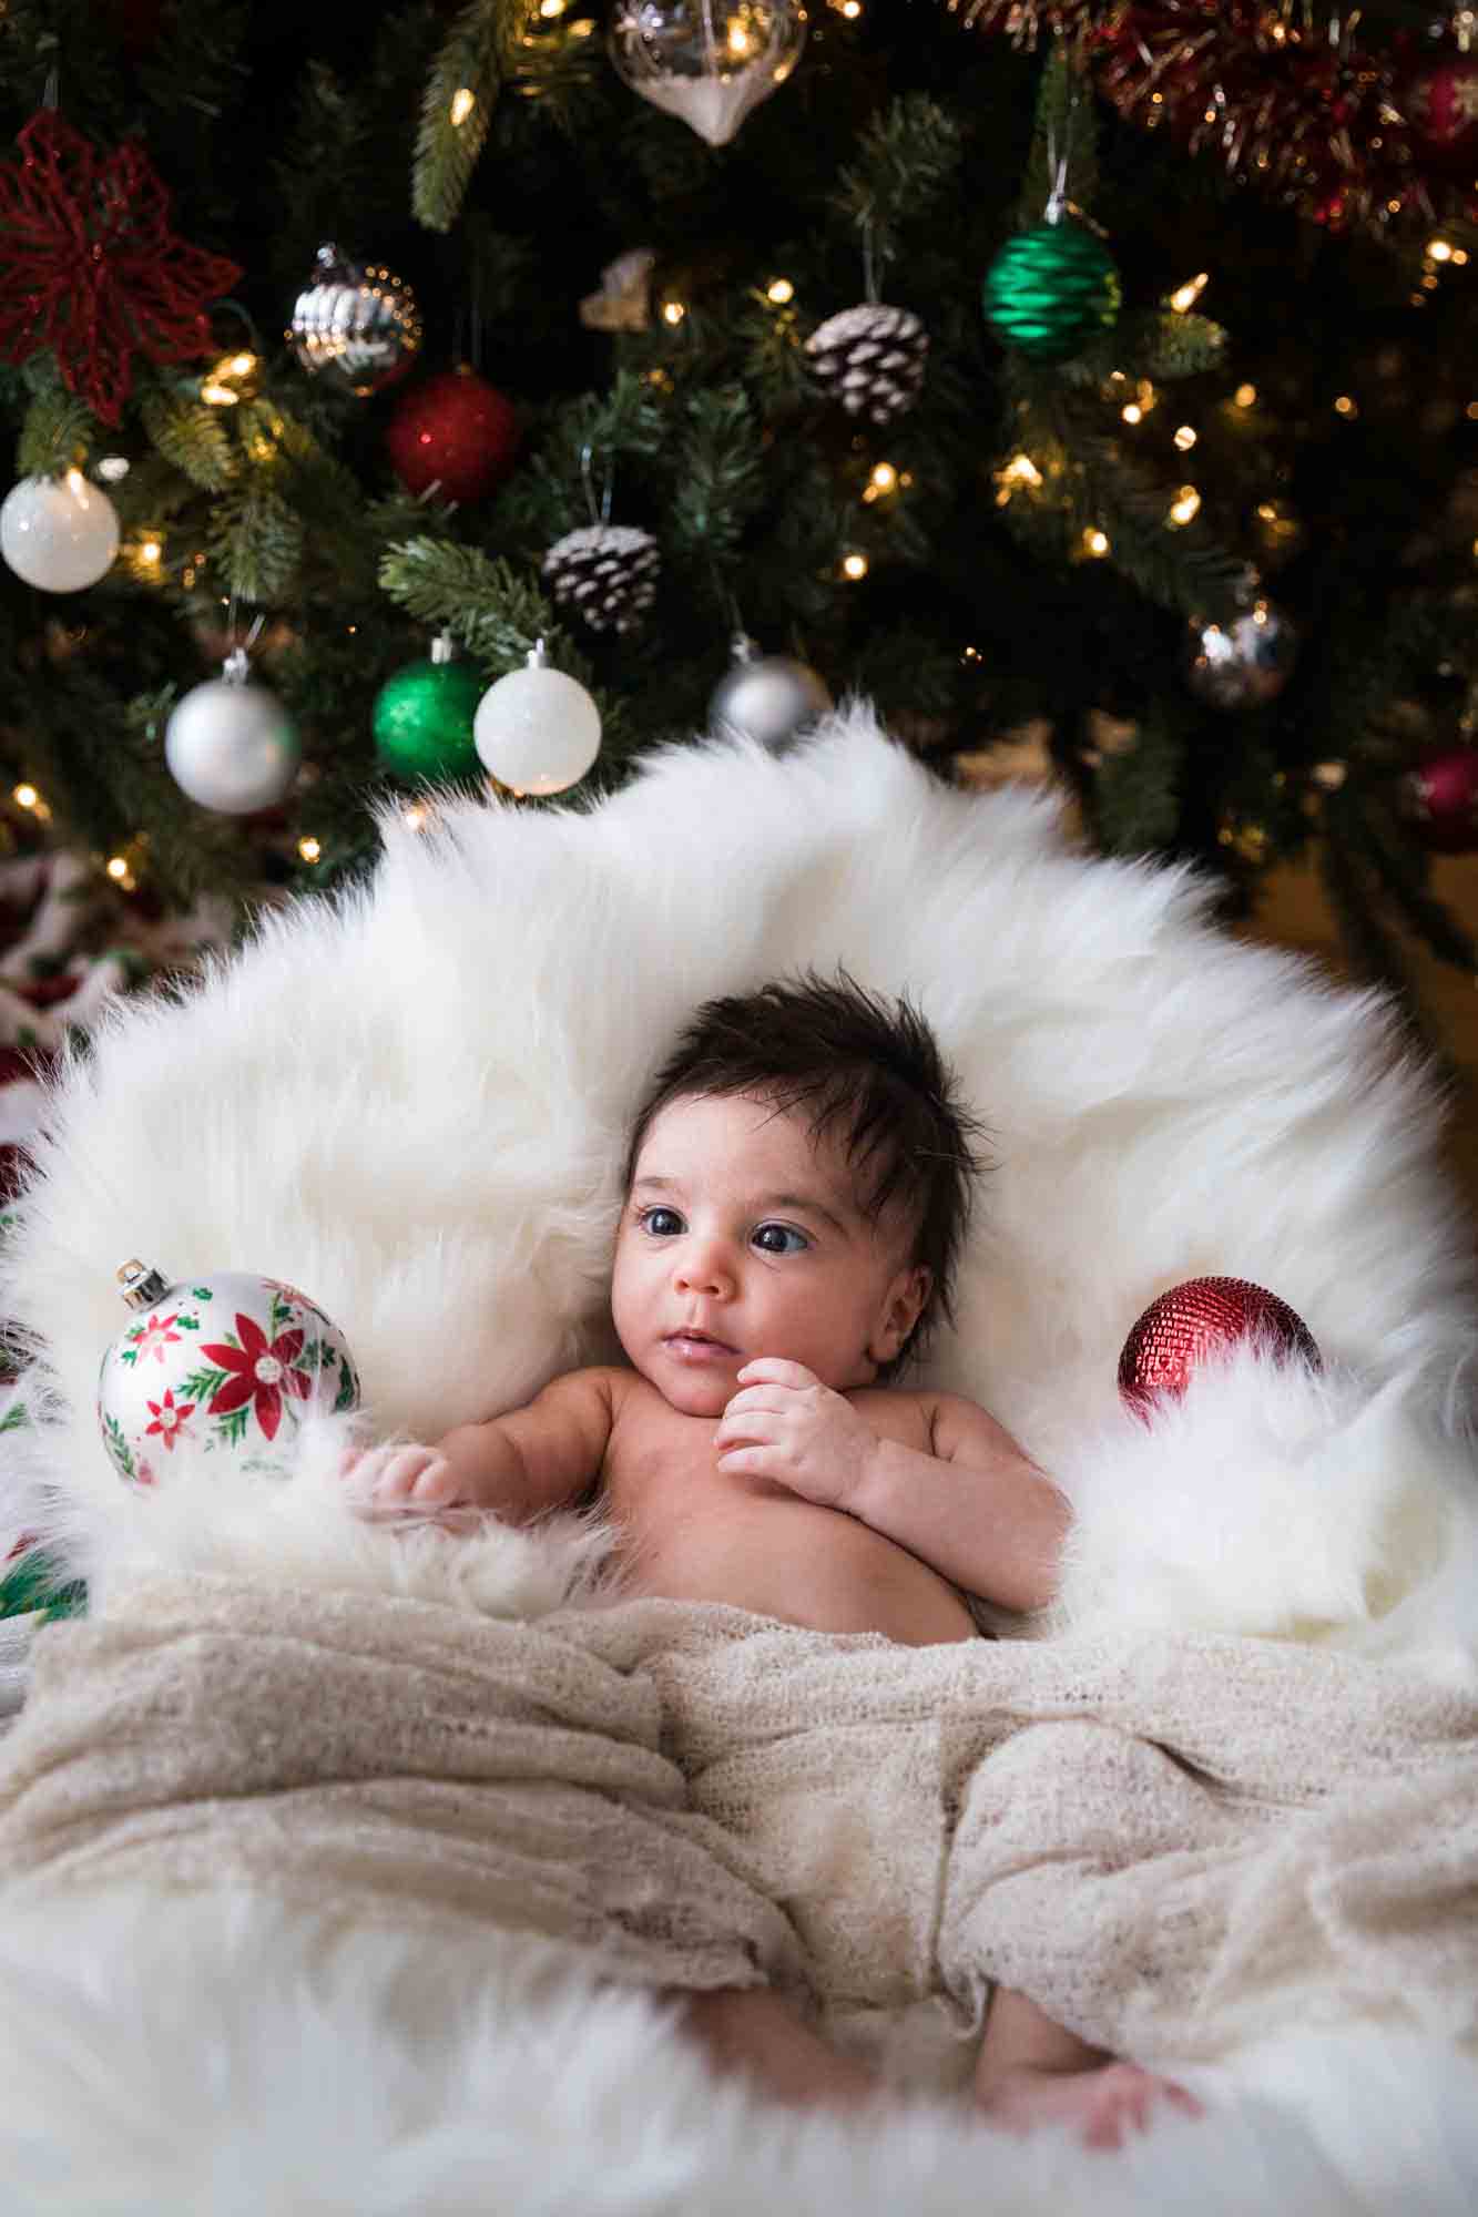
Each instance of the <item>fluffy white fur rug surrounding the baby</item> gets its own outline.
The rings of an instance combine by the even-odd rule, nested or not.
[[[846,962],[923,1004],[992,1131],[930,1375],[1072,1494],[1056,1623],[1329,1641],[1471,1685],[1478,1310],[1436,1093],[1374,995],[1216,933],[1207,900],[1074,854],[1034,794],[945,789],[863,707],[783,760],[675,749],[595,811],[388,820],[366,891],[271,918],[178,1004],[120,1007],[69,1069],[0,1257],[44,1419],[0,1439],[0,1550],[51,1532],[102,1607],[140,1559],[246,1570],[264,1607],[284,1579],[555,1605],[559,1543],[453,1561],[353,1525],[331,1423],[293,1485],[184,1465],[124,1492],[93,1417],[113,1270],[302,1286],[375,1434],[519,1401],[608,1348],[621,1131],[670,1031],[708,993]],[[1325,1370],[1243,1355],[1145,1428],[1116,1394],[1123,1337],[1203,1273],[1283,1295]],[[1478,2068],[1398,2029],[1243,2053],[1207,2119],[1107,2159],[939,2108],[761,2119],[650,2004],[550,1975],[499,1935],[486,1962],[428,1962],[273,1902],[78,1900],[0,1944],[7,2190],[211,2217],[1478,2199]]]

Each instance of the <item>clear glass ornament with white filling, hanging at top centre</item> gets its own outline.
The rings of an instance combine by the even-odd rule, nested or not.
[[[710,146],[728,146],[803,44],[799,0],[621,0],[610,27],[617,75]]]

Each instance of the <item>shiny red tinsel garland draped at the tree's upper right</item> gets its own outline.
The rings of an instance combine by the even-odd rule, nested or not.
[[[961,0],[950,0],[961,7]],[[1320,22],[1287,0],[963,0],[965,22],[1019,42],[1070,35],[1099,91],[1132,122],[1165,129],[1190,153],[1214,151],[1332,231],[1400,217],[1474,215],[1471,191],[1423,133],[1436,64],[1460,62],[1409,33],[1380,51],[1356,44],[1356,13]]]

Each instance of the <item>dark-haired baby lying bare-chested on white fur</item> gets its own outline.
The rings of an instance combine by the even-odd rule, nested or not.
[[[371,1516],[528,1523],[599,1483],[626,1590],[928,1645],[963,1594],[1041,1607],[1067,1505],[959,1394],[892,1383],[950,1312],[976,1126],[908,1002],[850,978],[706,1002],[637,1113],[610,1308],[630,1368],[353,1468]],[[790,2102],[872,2073],[779,1995],[684,1998],[715,2060]],[[974,2080],[1001,2124],[1116,2146],[1192,2097],[996,1991]]]

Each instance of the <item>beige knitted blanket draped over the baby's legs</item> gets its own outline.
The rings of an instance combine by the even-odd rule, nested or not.
[[[828,2017],[990,1984],[1214,2060],[1478,2037],[1478,1698],[1241,1638],[899,1647],[668,1601],[502,1623],[220,1579],[47,1627],[0,1909],[246,1882]]]

